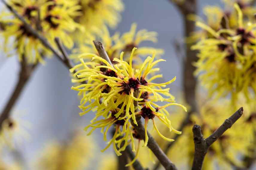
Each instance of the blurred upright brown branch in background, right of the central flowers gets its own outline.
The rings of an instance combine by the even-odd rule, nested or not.
[[[183,16],[183,24],[184,24],[184,39],[189,37],[191,33],[196,30],[195,22],[190,21],[187,19],[188,14],[196,14],[197,11],[197,0],[185,0],[183,3],[177,3],[175,0],[171,1],[178,10],[182,13]],[[179,131],[182,131],[184,127],[190,122],[190,116],[193,112],[197,111],[197,104],[196,104],[196,78],[193,75],[195,71],[195,67],[192,65],[193,62],[197,60],[196,51],[191,50],[192,44],[185,44],[185,57],[182,60],[183,65],[183,91],[184,91],[184,98],[186,103],[191,107],[189,112],[186,115],[186,118],[182,121]],[[174,141],[167,144],[164,149],[164,153],[167,154],[173,144],[177,141],[177,139],[181,135],[175,135],[173,137]],[[160,163],[156,163],[154,166],[154,170],[157,170],[160,167]]]

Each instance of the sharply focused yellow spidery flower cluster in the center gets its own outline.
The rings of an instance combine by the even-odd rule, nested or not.
[[[147,125],[150,119],[153,121],[154,129],[162,138],[173,141],[161,135],[156,127],[154,118],[159,118],[170,131],[180,134],[181,132],[176,131],[171,126],[171,122],[166,116],[168,112],[165,108],[177,105],[186,110],[184,106],[174,103],[174,97],[170,95],[169,88],[164,88],[167,84],[175,81],[176,78],[161,84],[152,83],[154,79],[161,77],[161,75],[148,78],[150,72],[159,70],[154,66],[165,60],[154,61],[156,56],[156,53],[154,53],[152,57],[149,56],[145,59],[140,69],[135,70],[132,67],[132,58],[135,50],[136,48],[133,48],[129,63],[124,61],[124,52],[122,52],[120,59],[113,59],[115,65],[108,63],[105,59],[95,54],[82,54],[79,56],[81,63],[70,69],[70,72],[73,72],[79,68],[79,71],[74,73],[74,77],[78,79],[73,79],[73,82],[81,82],[82,84],[71,89],[77,90],[79,92],[78,95],[82,96],[79,107],[83,112],[80,115],[85,115],[91,110],[96,111],[95,118],[85,130],[92,128],[89,132],[90,135],[95,129],[101,128],[104,140],[107,140],[108,129],[115,125],[115,134],[108,142],[108,146],[102,151],[113,145],[117,155],[121,155],[120,151],[123,151],[129,142],[132,143],[132,149],[135,151],[134,138],[139,140],[141,138],[133,126],[137,126],[137,120],[140,117],[145,119],[146,139],[144,146],[147,146]],[[92,61],[84,62],[83,58],[88,57],[92,57]],[[95,60],[102,62],[102,64],[95,62]],[[168,103],[164,106],[159,106],[155,103],[158,101],[166,101]],[[121,126],[123,126],[123,129],[121,129]],[[125,143],[120,147],[123,141]]]

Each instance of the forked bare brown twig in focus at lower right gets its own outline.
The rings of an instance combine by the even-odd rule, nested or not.
[[[192,165],[192,170],[201,170],[205,155],[208,148],[243,115],[243,107],[238,109],[230,118],[226,119],[224,123],[211,134],[204,139],[202,135],[202,129],[199,125],[193,126],[195,153]]]

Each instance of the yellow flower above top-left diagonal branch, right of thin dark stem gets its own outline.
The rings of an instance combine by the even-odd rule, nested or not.
[[[73,20],[73,17],[80,16],[78,11],[81,7],[75,1],[46,1],[40,7],[40,17],[43,34],[54,46],[54,38],[59,37],[65,47],[71,49],[74,42],[70,33],[76,29],[84,31],[84,28]],[[69,34],[68,34],[69,33]]]

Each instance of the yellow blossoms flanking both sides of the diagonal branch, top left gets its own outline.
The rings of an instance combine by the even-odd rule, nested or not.
[[[15,0],[11,1],[10,5],[24,17],[33,29],[43,34],[52,46],[56,47],[54,38],[59,37],[66,47],[73,47],[73,40],[67,33],[80,28],[80,25],[71,18],[79,15],[77,12],[78,5],[47,0]],[[13,48],[8,49],[11,45],[16,49],[19,60],[22,60],[22,56],[25,55],[28,63],[36,63],[37,61],[43,63],[42,55],[45,52],[47,55],[51,54],[36,37],[25,29],[24,24],[13,14],[2,12],[0,22],[5,52],[12,52]]]

